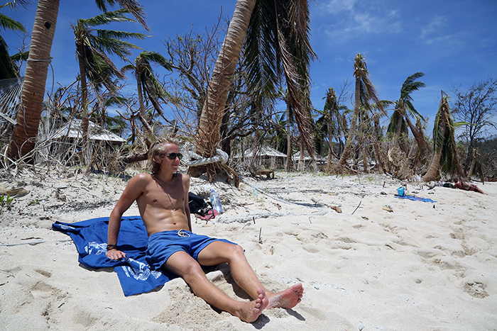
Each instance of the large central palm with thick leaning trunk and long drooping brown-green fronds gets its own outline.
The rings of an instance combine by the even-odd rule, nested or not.
[[[259,91],[265,97],[276,95],[275,83],[278,77],[285,77],[297,125],[306,138],[307,149],[312,150],[312,130],[308,118],[308,65],[315,53],[308,40],[308,14],[306,0],[236,2],[233,18],[207,86],[207,98],[200,116],[198,135],[204,143],[197,148],[202,155],[212,156],[219,144],[229,86],[244,40],[247,43],[244,55],[249,66],[251,91]],[[208,167],[209,179],[213,180],[214,175],[214,167]]]

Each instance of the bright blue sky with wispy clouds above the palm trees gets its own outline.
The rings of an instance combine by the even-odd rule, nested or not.
[[[52,79],[64,85],[74,82],[77,75],[70,23],[99,13],[94,1],[82,3],[60,1],[49,89]],[[198,33],[210,30],[221,13],[231,17],[236,1],[142,0],[141,4],[153,37],[138,40],[136,45],[164,52],[163,41],[169,36],[184,35],[192,27]],[[35,5],[17,11],[2,9],[1,13],[21,21],[31,33]],[[311,45],[319,57],[310,69],[313,106],[323,108],[322,98],[329,87],[339,89],[345,79],[354,82],[354,56],[361,53],[381,99],[397,100],[410,74],[425,73],[420,80],[426,87],[412,96],[417,111],[430,118],[430,133],[441,90],[450,92],[453,86],[466,90],[475,82],[497,78],[496,17],[495,0],[310,1]],[[138,25],[133,30],[146,33]],[[11,54],[15,52],[21,43],[18,35],[2,31],[2,36]]]

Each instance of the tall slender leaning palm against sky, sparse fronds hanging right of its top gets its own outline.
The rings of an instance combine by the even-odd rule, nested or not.
[[[376,108],[380,111],[383,111],[383,103],[381,103],[380,99],[378,98],[378,94],[376,94],[376,88],[374,87],[373,83],[371,83],[368,76],[368,67],[366,66],[366,62],[364,61],[364,56],[362,56],[361,54],[356,55],[356,57],[354,58],[354,77],[356,77],[354,113],[352,115],[349,135],[347,136],[344,152],[340,156],[339,162],[337,164],[337,169],[344,167],[352,150],[354,137],[356,136],[357,120],[359,118],[361,107],[365,107],[369,111],[372,111],[370,101],[373,101],[373,103],[376,104]]]

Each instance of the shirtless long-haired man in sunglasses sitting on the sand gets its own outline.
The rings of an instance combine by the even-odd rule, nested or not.
[[[224,310],[245,322],[255,322],[266,308],[295,307],[302,300],[302,284],[274,293],[264,288],[247,262],[239,245],[192,233],[188,190],[190,177],[178,173],[180,147],[171,138],[161,138],[152,146],[149,161],[152,174],[138,174],[129,181],[109,218],[107,257],[126,257],[116,247],[121,217],[133,201],[148,233],[146,258],[153,269],[178,274],[210,305]],[[235,301],[212,284],[202,266],[229,264],[234,281],[253,301]]]

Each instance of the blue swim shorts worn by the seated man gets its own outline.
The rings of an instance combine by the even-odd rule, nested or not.
[[[216,241],[234,244],[229,240],[196,235],[186,230],[155,232],[148,237],[146,259],[153,270],[159,270],[175,252],[187,252],[197,259],[202,249]]]

